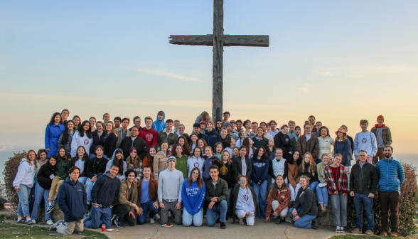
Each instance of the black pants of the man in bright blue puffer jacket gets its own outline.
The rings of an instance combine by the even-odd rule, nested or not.
[[[379,191],[379,201],[382,207],[382,232],[387,231],[388,214],[390,210],[390,230],[392,233],[397,233],[399,228],[399,200],[400,195],[397,191],[385,192]]]

